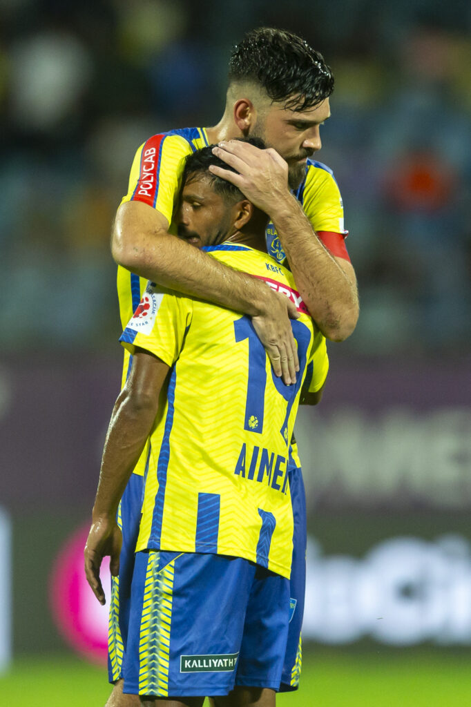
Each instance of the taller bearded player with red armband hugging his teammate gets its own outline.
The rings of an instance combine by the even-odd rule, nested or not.
[[[296,379],[296,346],[290,339],[291,326],[286,317],[286,311],[294,315],[289,300],[280,298],[260,281],[170,238],[175,233],[173,212],[185,157],[210,143],[218,143],[216,153],[238,174],[231,176],[221,167],[219,172],[213,168],[214,173],[233,180],[255,206],[270,216],[267,249],[274,259],[273,271],[278,263],[291,267],[298,291],[328,339],[340,341],[349,336],[358,317],[358,298],[354,270],[344,245],[342,200],[329,168],[310,159],[320,149],[320,125],[330,116],[332,90],[332,72],[306,42],[281,30],[254,30],[233,49],[221,121],[212,128],[158,134],[139,148],[128,193],[117,212],[112,241],[113,254],[120,263],[118,293],[123,327],[139,306],[146,279],[151,279],[250,315],[274,373],[283,373],[286,383]],[[250,135],[263,136],[269,149],[233,141]],[[143,277],[139,279],[136,273]],[[126,354],[123,385],[131,365],[132,359]],[[292,573],[291,648],[287,651],[282,689],[296,688],[301,666],[299,633],[306,523],[295,444],[291,465],[295,469],[290,478],[291,496],[298,498],[293,511],[295,520],[296,515],[299,518],[294,544],[300,561],[297,565],[295,562],[299,570],[297,581],[295,567]],[[110,612],[112,682],[120,678],[126,644],[136,518],[145,471],[146,458],[142,457],[120,506],[123,551]],[[93,545],[93,538],[90,544]],[[110,707],[124,705],[119,700],[118,685]]]

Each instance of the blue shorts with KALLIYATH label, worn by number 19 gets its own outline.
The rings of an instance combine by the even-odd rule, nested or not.
[[[278,689],[289,626],[289,580],[240,557],[136,553],[124,692],[226,695]]]

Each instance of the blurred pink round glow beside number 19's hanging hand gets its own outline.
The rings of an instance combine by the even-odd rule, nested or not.
[[[83,571],[83,548],[89,526],[81,526],[59,551],[50,575],[52,616],[59,632],[76,653],[104,665],[107,660],[108,604],[98,603]],[[101,568],[107,601],[110,597],[109,559]]]

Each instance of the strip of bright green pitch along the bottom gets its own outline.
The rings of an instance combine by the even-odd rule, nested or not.
[[[74,658],[23,658],[0,677],[5,706],[103,707],[105,670]],[[303,658],[301,689],[279,707],[465,707],[471,704],[471,651],[354,652],[317,649]]]

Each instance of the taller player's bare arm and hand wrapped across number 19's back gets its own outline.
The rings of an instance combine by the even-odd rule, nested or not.
[[[296,305],[256,278],[231,269],[168,233],[165,216],[141,201],[125,201],[112,231],[118,265],[182,294],[252,317],[274,374],[286,385],[296,380],[298,351],[289,317]]]

